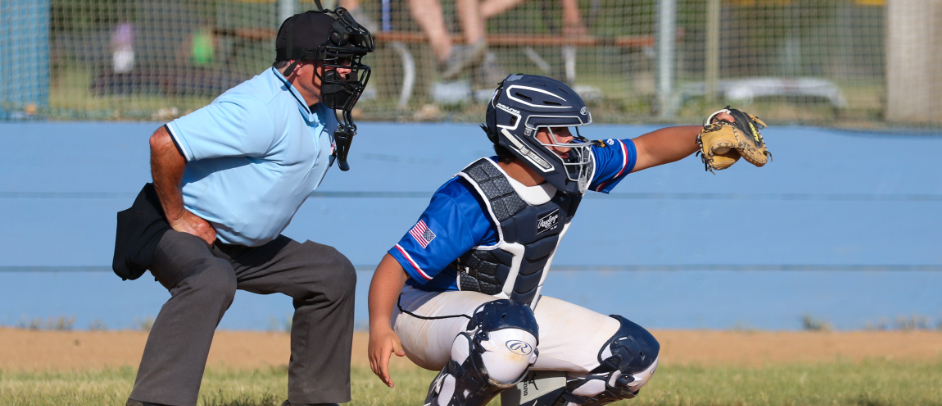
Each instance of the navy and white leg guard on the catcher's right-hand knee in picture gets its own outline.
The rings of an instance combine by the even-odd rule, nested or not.
[[[555,405],[596,406],[631,399],[654,375],[661,345],[643,327],[621,316],[612,317],[621,327],[599,351],[601,365],[582,376],[570,374]]]

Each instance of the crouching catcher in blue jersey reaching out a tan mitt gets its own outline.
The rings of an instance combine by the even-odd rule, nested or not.
[[[608,193],[698,143],[714,169],[736,153],[758,162],[761,122],[727,108],[703,127],[590,141],[579,127],[591,122],[559,81],[510,75],[499,85],[481,126],[497,156],[439,188],[373,275],[369,356],[384,383],[393,386],[391,354],[441,371],[431,406],[483,406],[499,393],[504,406],[604,405],[651,379],[660,350],[651,333],[541,296],[556,248],[586,191]]]

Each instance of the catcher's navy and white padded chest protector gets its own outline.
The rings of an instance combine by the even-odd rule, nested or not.
[[[458,290],[512,299],[535,309],[559,240],[569,228],[582,195],[556,192],[530,205],[494,161],[482,158],[458,173],[477,191],[497,226],[497,244],[477,246],[459,257]]]

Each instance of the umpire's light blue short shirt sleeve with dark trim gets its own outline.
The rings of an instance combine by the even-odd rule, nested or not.
[[[275,125],[263,104],[251,98],[217,99],[167,123],[187,162],[226,156],[265,155]]]

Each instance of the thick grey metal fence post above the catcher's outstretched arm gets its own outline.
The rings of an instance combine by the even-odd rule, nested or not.
[[[657,93],[660,104],[659,116],[669,118],[674,114],[674,43],[676,41],[677,0],[660,0],[658,5],[658,77]]]

